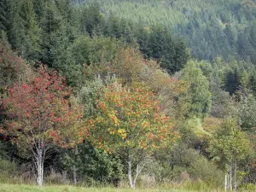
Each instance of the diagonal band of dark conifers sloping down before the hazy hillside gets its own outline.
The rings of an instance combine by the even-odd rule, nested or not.
[[[103,35],[118,38],[132,46],[137,43],[145,57],[156,59],[169,73],[180,70],[188,61],[189,54],[182,38],[175,40],[166,27],[151,25],[149,30],[145,30],[143,25],[129,20],[111,14],[105,16],[98,3],[85,4],[78,11],[82,12],[80,20],[84,33],[89,33],[90,37]]]

